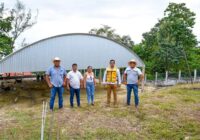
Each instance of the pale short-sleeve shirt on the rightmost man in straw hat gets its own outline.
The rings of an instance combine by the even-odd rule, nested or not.
[[[136,84],[138,82],[139,75],[142,74],[141,70],[137,67],[127,67],[124,73],[127,74],[127,84]]]

